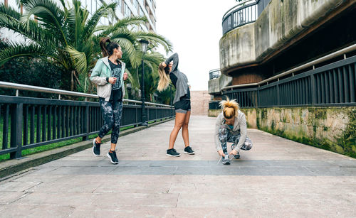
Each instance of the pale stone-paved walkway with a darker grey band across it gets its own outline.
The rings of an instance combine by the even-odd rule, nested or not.
[[[174,121],[122,136],[120,163],[91,149],[0,182],[0,217],[356,217],[356,160],[248,129],[216,164],[214,118],[192,116],[195,156],[164,155]]]

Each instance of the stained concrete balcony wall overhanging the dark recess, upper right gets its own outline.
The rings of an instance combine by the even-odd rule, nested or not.
[[[236,67],[258,64],[276,55],[288,48],[290,40],[297,40],[300,33],[326,21],[326,17],[341,6],[355,1],[272,0],[256,22],[236,28],[221,38],[221,73],[228,75]]]

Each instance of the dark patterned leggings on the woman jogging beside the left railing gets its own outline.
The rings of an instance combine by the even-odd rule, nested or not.
[[[120,131],[120,121],[122,114],[122,102],[105,102],[100,98],[100,109],[104,119],[104,126],[99,131],[99,137],[103,138],[112,129],[111,143],[117,143]]]

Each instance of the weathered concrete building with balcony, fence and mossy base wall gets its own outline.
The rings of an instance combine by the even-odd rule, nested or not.
[[[222,21],[209,113],[239,102],[248,125],[356,157],[356,0],[251,0]]]

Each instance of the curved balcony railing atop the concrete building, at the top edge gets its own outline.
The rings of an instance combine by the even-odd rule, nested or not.
[[[252,23],[258,18],[258,1],[244,1],[227,11],[223,16],[223,35],[234,28]]]

